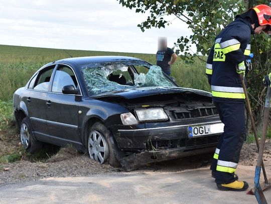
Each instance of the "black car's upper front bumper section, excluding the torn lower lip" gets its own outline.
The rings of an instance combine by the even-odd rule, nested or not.
[[[148,128],[138,128],[129,126],[115,126],[114,135],[118,148],[122,150],[152,150],[150,144],[155,149],[179,148],[199,146],[215,146],[220,134],[206,135],[201,137],[189,137],[188,126],[208,125],[221,123],[220,120],[194,121],[187,124],[167,124],[167,126],[154,125]],[[124,129],[126,128],[126,129]]]

